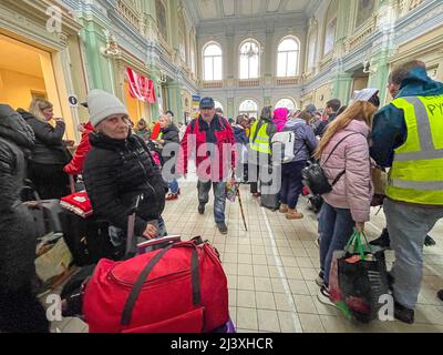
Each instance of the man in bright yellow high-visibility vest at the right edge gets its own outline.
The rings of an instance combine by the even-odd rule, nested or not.
[[[395,68],[394,100],[373,120],[371,156],[390,168],[384,213],[395,263],[394,316],[414,322],[422,282],[423,243],[443,217],[443,83],[420,61]]]

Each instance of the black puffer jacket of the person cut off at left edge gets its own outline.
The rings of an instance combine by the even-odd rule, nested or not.
[[[9,105],[0,104],[0,292],[17,292],[34,273],[35,231],[20,203],[24,154],[34,143],[32,129]]]

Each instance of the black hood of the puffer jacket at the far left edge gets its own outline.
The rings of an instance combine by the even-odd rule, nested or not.
[[[0,104],[0,136],[24,149],[32,149],[35,142],[32,128],[7,104]]]

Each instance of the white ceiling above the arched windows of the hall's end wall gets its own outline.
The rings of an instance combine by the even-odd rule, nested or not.
[[[185,0],[199,21],[303,13],[312,0]]]

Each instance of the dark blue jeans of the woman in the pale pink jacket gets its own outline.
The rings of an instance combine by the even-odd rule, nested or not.
[[[341,251],[353,233],[356,222],[351,211],[336,209],[323,203],[319,215],[320,268],[324,273],[324,285],[329,285],[329,272],[334,251]]]

